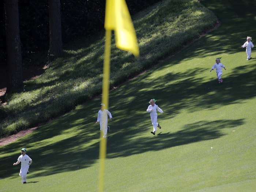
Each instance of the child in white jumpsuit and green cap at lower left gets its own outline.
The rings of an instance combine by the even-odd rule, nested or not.
[[[21,182],[23,184],[27,183],[27,173],[29,171],[29,166],[32,163],[32,159],[26,153],[27,150],[25,148],[22,148],[21,155],[19,156],[18,161],[16,163],[13,163],[13,165],[18,165],[21,162],[19,176],[21,177]]]

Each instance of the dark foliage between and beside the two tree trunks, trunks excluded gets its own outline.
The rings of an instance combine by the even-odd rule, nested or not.
[[[91,35],[103,30],[106,0],[61,0],[61,27],[63,42],[81,35]],[[161,0],[126,0],[132,14]],[[0,5],[3,10],[3,4]],[[49,46],[48,0],[19,0],[20,39],[22,54],[47,50]],[[1,12],[1,11],[0,11]],[[0,42],[5,42],[4,14],[0,15]],[[5,46],[0,46],[1,57]]]

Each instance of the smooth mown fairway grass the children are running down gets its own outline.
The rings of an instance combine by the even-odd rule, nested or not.
[[[255,191],[256,53],[246,61],[240,46],[256,34],[256,20],[234,18],[249,1],[201,2],[221,27],[110,92],[105,191]],[[216,57],[227,68],[223,84],[209,72]],[[155,136],[146,112],[151,98],[165,112]],[[97,191],[100,102],[1,147],[0,190]],[[25,186],[12,166],[22,147],[33,159]]]

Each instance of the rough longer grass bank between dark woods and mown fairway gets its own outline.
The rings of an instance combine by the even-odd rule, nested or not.
[[[110,86],[157,64],[216,20],[196,0],[165,0],[133,16],[140,58],[135,60],[131,53],[117,49],[112,39]],[[8,105],[0,108],[0,136],[37,126],[99,95],[104,40],[98,35],[66,45],[64,57],[40,78],[24,82],[24,89],[7,95]]]

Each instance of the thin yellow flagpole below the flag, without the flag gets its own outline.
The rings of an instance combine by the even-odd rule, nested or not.
[[[102,83],[102,103],[105,104],[104,109],[108,109],[109,105],[109,76],[110,76],[110,51],[111,51],[111,30],[106,30],[106,40],[105,40],[105,53],[104,53],[104,63],[103,63],[103,83]],[[102,118],[106,119],[108,114],[103,113]],[[108,125],[103,124],[102,127],[105,128]],[[105,158],[106,158],[106,145],[107,140],[103,138],[103,131],[100,134],[99,143],[99,192],[104,191],[104,173],[105,173]]]

